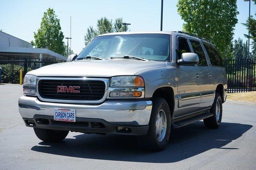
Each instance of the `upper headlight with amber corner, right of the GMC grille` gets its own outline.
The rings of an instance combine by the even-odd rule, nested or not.
[[[140,76],[118,76],[110,79],[110,87],[144,87],[144,80]]]

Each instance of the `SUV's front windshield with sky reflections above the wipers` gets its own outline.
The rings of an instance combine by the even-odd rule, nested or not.
[[[86,56],[113,59],[131,55],[148,60],[170,60],[170,35],[124,34],[99,36],[90,42],[76,59]]]

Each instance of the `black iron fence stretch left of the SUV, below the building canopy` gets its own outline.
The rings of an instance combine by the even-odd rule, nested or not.
[[[31,70],[38,69],[45,65],[57,63],[55,58],[14,58],[0,57],[0,67],[2,68],[2,83],[19,83],[20,70],[24,75]]]

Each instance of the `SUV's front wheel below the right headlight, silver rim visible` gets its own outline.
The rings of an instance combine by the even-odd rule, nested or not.
[[[148,133],[138,136],[140,148],[160,151],[166,148],[171,130],[171,114],[168,103],[161,97],[152,99],[153,107],[149,122]]]

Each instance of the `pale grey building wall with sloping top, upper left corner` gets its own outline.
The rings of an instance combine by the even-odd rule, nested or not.
[[[9,41],[10,39],[10,41]],[[0,31],[0,47],[29,47],[33,48],[33,45],[29,42],[6,34],[5,32]]]

